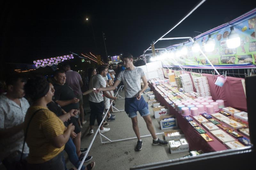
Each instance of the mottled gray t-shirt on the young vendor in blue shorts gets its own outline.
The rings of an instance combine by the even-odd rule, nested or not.
[[[137,93],[141,90],[140,79],[143,76],[144,72],[142,68],[139,67],[134,67],[131,71],[125,69],[118,74],[117,80],[123,81],[126,98],[136,97]]]

